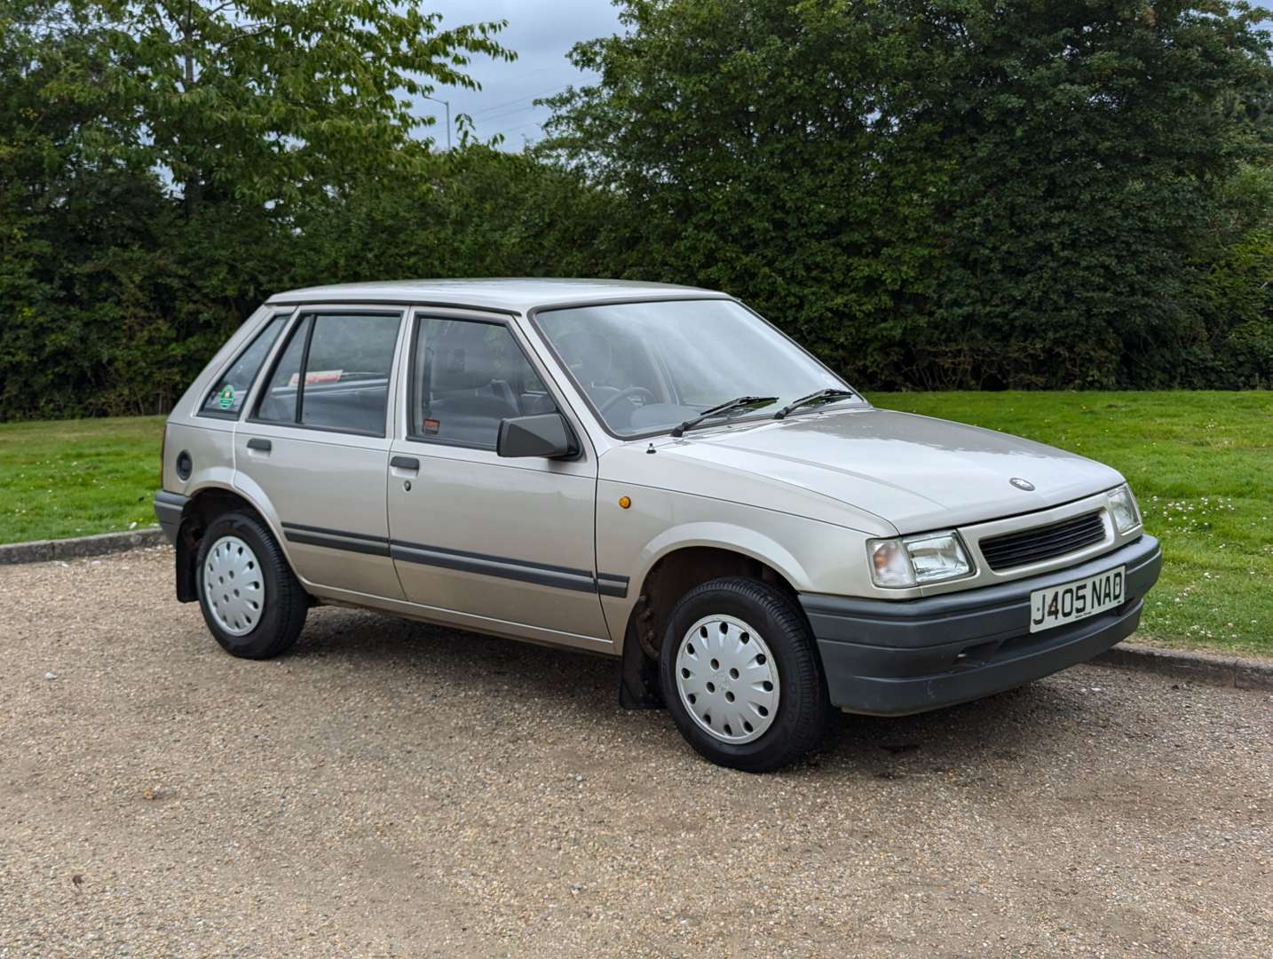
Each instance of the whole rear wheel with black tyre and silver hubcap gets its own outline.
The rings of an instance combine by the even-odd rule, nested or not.
[[[204,531],[196,563],[199,607],[225,652],[267,660],[295,643],[309,596],[258,518],[216,517]]]

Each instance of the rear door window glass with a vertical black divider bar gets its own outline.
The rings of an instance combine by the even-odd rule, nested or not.
[[[384,436],[398,313],[313,313],[283,352],[258,418]]]

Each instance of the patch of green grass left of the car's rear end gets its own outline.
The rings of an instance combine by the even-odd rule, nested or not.
[[[154,526],[164,419],[0,424],[0,543]]]

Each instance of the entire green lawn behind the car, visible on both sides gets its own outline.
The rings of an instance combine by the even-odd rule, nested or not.
[[[1166,565],[1141,639],[1273,656],[1273,394],[872,394],[1108,462]],[[0,543],[154,523],[162,416],[0,425]]]

